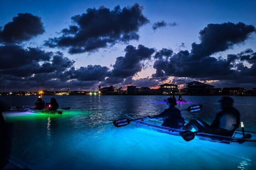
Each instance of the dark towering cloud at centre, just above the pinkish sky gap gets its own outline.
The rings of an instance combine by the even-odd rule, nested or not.
[[[143,67],[142,61],[151,59],[155,52],[153,48],[147,48],[143,45],[138,45],[138,48],[132,45],[126,46],[124,57],[117,57],[113,65],[112,75],[117,78],[127,78],[134,76],[140,72]]]

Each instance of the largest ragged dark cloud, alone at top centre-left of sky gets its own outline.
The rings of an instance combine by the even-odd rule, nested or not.
[[[69,48],[70,54],[77,54],[138,40],[139,28],[149,23],[142,9],[138,4],[123,9],[118,5],[112,11],[104,7],[88,8],[86,13],[71,18],[75,25],[63,29],[61,37],[51,38],[45,45]]]

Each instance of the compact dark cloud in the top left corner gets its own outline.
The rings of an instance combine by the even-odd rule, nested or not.
[[[19,43],[43,34],[44,28],[41,18],[29,13],[18,14],[7,23],[3,30],[0,29],[0,42]]]

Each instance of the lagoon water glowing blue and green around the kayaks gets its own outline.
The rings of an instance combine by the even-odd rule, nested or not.
[[[32,105],[36,96],[0,96],[11,105]],[[44,96],[49,101],[51,96]],[[161,134],[112,121],[125,114],[154,115],[165,109],[166,96],[57,96],[62,115],[5,113],[12,125],[13,159],[33,169],[256,169],[256,145],[218,144]],[[184,96],[203,104],[186,120],[211,122],[221,96]],[[245,129],[256,131],[256,97],[233,97]]]

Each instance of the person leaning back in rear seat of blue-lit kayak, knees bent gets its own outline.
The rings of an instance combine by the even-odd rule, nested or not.
[[[240,124],[240,113],[233,107],[234,100],[231,97],[224,96],[221,102],[222,111],[217,113],[216,118],[211,125],[202,120],[190,120],[182,130],[202,131],[209,134],[217,134],[222,136],[232,136],[235,129]]]

